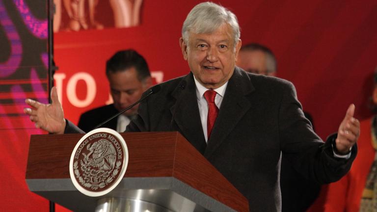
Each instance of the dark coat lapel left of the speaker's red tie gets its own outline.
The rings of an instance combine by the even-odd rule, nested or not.
[[[200,121],[196,87],[190,72],[172,92],[176,102],[171,106],[172,119],[179,132],[201,153],[204,154],[206,141]]]

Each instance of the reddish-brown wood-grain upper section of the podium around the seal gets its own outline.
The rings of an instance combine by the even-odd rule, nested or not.
[[[124,177],[174,177],[236,211],[249,211],[245,197],[178,132],[125,132],[129,163]],[[83,134],[32,135],[26,179],[64,179]]]

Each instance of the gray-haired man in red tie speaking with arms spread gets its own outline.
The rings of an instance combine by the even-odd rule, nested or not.
[[[235,67],[241,40],[232,12],[212,2],[196,5],[183,24],[180,46],[191,72],[162,83],[158,93],[139,105],[128,131],[179,131],[239,189],[253,212],[281,211],[281,152],[318,183],[337,181],[350,169],[359,134],[354,105],[338,134],[323,143],[304,117],[292,83]],[[208,107],[203,94],[214,91]],[[55,88],[52,100],[51,105],[26,100],[33,108],[25,113],[36,127],[82,132],[64,119]],[[207,128],[216,106],[214,126]]]

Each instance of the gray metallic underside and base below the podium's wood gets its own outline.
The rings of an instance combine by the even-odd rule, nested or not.
[[[27,179],[27,185],[31,191],[72,211],[235,212],[172,177],[123,178],[114,190],[101,197],[82,194],[71,179]]]

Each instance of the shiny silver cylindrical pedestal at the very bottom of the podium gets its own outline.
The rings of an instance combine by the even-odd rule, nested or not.
[[[104,198],[98,200],[95,212],[172,212],[154,203],[125,198]]]

